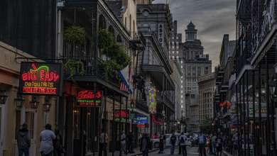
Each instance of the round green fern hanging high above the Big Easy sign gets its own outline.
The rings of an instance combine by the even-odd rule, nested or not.
[[[85,28],[70,26],[65,29],[64,38],[72,45],[83,45],[85,43]]]

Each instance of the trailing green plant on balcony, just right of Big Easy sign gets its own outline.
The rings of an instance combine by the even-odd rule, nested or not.
[[[80,60],[67,60],[67,62],[64,65],[65,69],[69,70],[70,72],[70,78],[73,80],[74,74],[75,74],[75,69],[79,70],[79,74],[83,75],[85,74],[85,67],[84,63]]]

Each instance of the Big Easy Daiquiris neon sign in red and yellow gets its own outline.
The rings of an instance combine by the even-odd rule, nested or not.
[[[61,96],[62,65],[49,62],[21,62],[20,94]]]

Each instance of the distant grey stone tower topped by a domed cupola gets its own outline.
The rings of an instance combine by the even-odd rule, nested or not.
[[[185,118],[188,131],[199,132],[199,77],[212,72],[212,61],[204,55],[201,41],[197,39],[197,29],[190,22],[185,30],[185,43],[182,43],[183,62],[183,97],[185,96]]]

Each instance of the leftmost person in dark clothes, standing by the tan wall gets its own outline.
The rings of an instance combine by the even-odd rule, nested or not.
[[[29,133],[28,126],[23,123],[22,128],[18,130],[16,135],[18,156],[29,156],[29,148],[31,146],[31,134]]]

